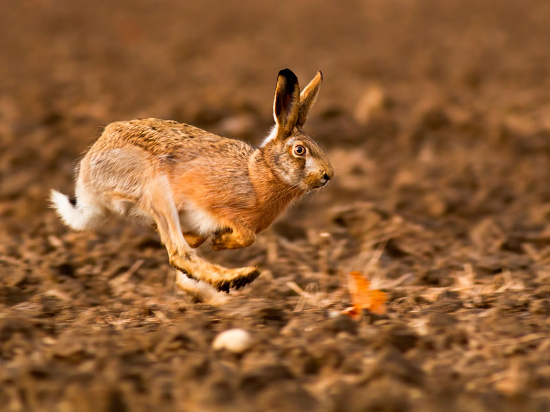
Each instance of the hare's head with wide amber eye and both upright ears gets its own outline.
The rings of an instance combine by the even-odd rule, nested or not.
[[[279,71],[273,104],[276,124],[261,148],[274,174],[305,192],[326,185],[334,176],[325,153],[303,130],[321,83],[318,71],[300,93],[296,75],[289,69]]]

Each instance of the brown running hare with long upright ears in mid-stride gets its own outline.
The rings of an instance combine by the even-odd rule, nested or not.
[[[172,266],[218,290],[240,288],[259,268],[224,268],[192,249],[210,236],[214,250],[249,246],[292,201],[333,177],[303,130],[321,82],[319,71],[300,93],[296,75],[279,72],[276,124],[256,149],[171,120],[111,123],[80,161],[76,199],[52,190],[53,206],[75,230],[109,214],[150,222]]]

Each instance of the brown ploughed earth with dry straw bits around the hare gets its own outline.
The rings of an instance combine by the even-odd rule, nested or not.
[[[549,45],[546,0],[4,1],[0,409],[550,410]],[[336,177],[199,249],[263,265],[228,304],[175,290],[153,230],[48,209],[114,120],[259,144],[284,67],[323,70],[307,130]],[[338,314],[351,270],[385,315]],[[228,328],[252,347],[212,350]]]

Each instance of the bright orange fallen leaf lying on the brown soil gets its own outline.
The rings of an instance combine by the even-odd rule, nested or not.
[[[342,313],[357,319],[363,309],[373,313],[384,314],[386,312],[386,293],[382,290],[371,289],[371,282],[360,272],[352,271],[348,277],[349,295],[351,304],[349,308],[342,310]]]

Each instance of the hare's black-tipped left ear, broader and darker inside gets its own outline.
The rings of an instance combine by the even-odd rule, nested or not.
[[[289,69],[279,71],[275,100],[273,102],[273,117],[277,124],[278,139],[286,139],[292,133],[298,120],[300,109],[300,86],[298,78]]]

